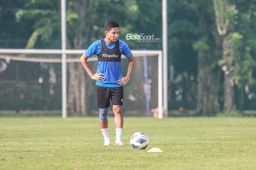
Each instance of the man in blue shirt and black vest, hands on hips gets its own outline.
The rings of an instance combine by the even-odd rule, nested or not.
[[[114,112],[114,124],[116,125],[116,141],[115,146],[123,146],[121,135],[123,132],[123,86],[128,83],[135,60],[131,50],[127,44],[119,37],[119,25],[116,22],[109,21],[105,24],[104,39],[95,41],[81,56],[80,61],[91,77],[96,80],[97,90],[97,107],[99,107],[99,125],[104,136],[104,145],[110,146],[111,141],[108,135],[108,107],[110,100],[112,102]],[[98,56],[97,72],[94,74],[88,63],[87,59],[93,54]],[[121,54],[130,61],[127,75],[121,76]]]

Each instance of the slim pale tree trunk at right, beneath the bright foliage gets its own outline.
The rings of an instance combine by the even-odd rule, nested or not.
[[[229,45],[227,42],[227,37],[223,37],[223,59],[225,60],[225,65],[222,66],[222,70],[224,71],[224,112],[230,113],[233,108],[234,103],[234,87],[231,83],[232,71],[231,71],[231,60],[229,57]]]

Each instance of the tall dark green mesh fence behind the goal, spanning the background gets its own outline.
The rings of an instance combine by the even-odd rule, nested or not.
[[[255,11],[256,0],[167,0],[169,115],[187,114],[191,110],[208,116],[255,112]],[[119,38],[130,49],[162,50],[161,0],[67,0],[67,48],[84,50],[104,38],[104,24],[109,20],[119,23]],[[1,0],[0,24],[0,48],[61,48],[60,0]],[[143,36],[152,38],[136,39]],[[1,82],[5,80],[7,66],[14,67],[14,63],[0,61]],[[31,70],[38,67],[43,72],[46,67],[35,65]],[[79,68],[76,64],[68,67]],[[30,79],[30,74],[19,79]],[[76,76],[69,74],[71,78]],[[17,75],[18,72],[12,72],[9,76],[15,82]],[[37,82],[40,77],[38,74]],[[72,83],[68,82],[71,89],[69,85]],[[1,89],[1,94],[3,91],[8,89]],[[83,109],[75,109],[79,104],[74,105],[73,110]]]

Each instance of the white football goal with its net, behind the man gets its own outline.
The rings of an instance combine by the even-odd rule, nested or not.
[[[0,112],[61,114],[61,50],[0,50]],[[67,55],[67,116],[97,116],[96,85],[80,63],[83,50]],[[124,116],[153,116],[162,108],[161,51],[133,50],[136,64],[124,86]],[[97,56],[88,60],[97,71]],[[129,60],[122,56],[122,76]],[[160,76],[159,76],[160,75]],[[159,84],[160,83],[160,84]],[[110,109],[112,110],[112,109]],[[109,115],[113,115],[110,111]]]

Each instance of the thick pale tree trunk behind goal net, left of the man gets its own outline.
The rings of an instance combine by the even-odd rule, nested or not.
[[[79,26],[75,30],[74,43],[75,49],[82,49],[83,44],[88,39],[86,31],[84,31],[86,23],[86,8],[88,0],[79,0],[72,2],[72,6],[79,15]],[[88,28],[90,29],[90,28]],[[70,45],[69,45],[70,46]],[[82,55],[82,54],[81,54]],[[86,72],[82,64],[80,63],[69,63],[69,83],[68,83],[68,109],[71,115],[88,116],[86,107]]]

